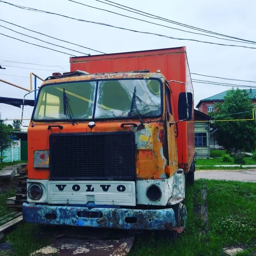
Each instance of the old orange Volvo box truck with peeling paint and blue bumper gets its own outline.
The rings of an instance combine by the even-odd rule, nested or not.
[[[71,57],[28,128],[26,222],[171,230],[195,172],[186,48]]]

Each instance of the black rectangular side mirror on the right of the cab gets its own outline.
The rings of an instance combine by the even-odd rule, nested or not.
[[[192,118],[193,95],[192,93],[180,93],[178,100],[179,120],[190,121]]]

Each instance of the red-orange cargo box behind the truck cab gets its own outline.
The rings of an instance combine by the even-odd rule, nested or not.
[[[143,69],[161,72],[171,85],[175,120],[178,120],[179,94],[193,94],[185,47],[70,57],[69,62],[71,72],[81,70],[89,73],[107,73]],[[187,173],[195,155],[194,113],[192,112],[191,121],[176,125],[178,167]]]

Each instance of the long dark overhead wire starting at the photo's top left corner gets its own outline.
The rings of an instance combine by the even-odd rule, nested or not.
[[[42,10],[38,10],[38,9],[35,9],[35,8],[30,8],[30,7],[25,7],[25,6],[21,6],[21,5],[11,4],[11,3],[8,3],[8,2],[3,1],[3,0],[0,0],[0,2],[5,3],[5,4],[10,4],[10,5],[14,6],[14,7],[21,8],[21,9],[24,9],[24,10],[35,11],[35,12],[42,12],[42,13],[47,13],[47,14],[53,14],[53,15],[61,16],[61,17],[64,17],[64,18],[72,19],[72,20],[78,20],[80,22],[93,23],[93,24],[97,24],[97,25],[113,27],[113,28],[116,28],[116,29],[122,29],[122,30],[136,32],[136,33],[142,33],[142,34],[148,34],[148,35],[157,35],[159,37],[165,37],[165,38],[170,38],[170,39],[187,40],[187,41],[201,42],[201,43],[213,44],[213,45],[233,46],[233,47],[242,47],[242,48],[256,49],[255,47],[249,47],[249,46],[244,46],[244,45],[219,44],[219,43],[214,43],[214,42],[200,41],[200,40],[196,40],[196,39],[177,38],[177,37],[170,37],[170,36],[162,35],[162,34],[150,33],[150,32],[133,30],[133,29],[126,29],[124,27],[117,27],[117,26],[106,24],[106,23],[93,22],[93,21],[83,20],[83,19],[77,19],[77,18],[73,18],[73,17],[67,16],[67,15],[57,14],[57,13],[54,13],[54,12],[42,11]]]

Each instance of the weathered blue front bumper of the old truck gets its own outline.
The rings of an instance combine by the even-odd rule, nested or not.
[[[47,225],[151,230],[172,229],[176,226],[174,211],[171,208],[134,210],[23,203],[22,214],[25,222]]]

